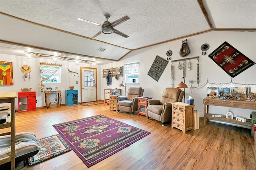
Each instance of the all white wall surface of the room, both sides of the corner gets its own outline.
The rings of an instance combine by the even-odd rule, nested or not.
[[[150,35],[149,35],[150,36]],[[256,62],[256,32],[228,32],[228,31],[212,31],[209,33],[204,33],[201,35],[196,35],[193,37],[188,37],[188,44],[190,47],[190,55],[186,58],[200,56],[200,83],[199,86],[206,82],[206,78],[208,78],[208,82],[212,83],[226,83],[230,82],[230,76],[226,74],[217,64],[215,64],[208,55],[214,51],[219,45],[221,45],[224,41],[230,43],[233,47],[238,49],[241,53],[247,56],[252,61]],[[171,56],[171,60],[182,59],[179,55],[180,47],[182,40],[171,41],[168,43],[140,49],[131,52],[124,59],[119,62],[105,64],[102,66],[96,65],[98,69],[98,100],[104,99],[104,88],[120,88],[118,85],[122,82],[124,77],[119,77],[119,80],[116,80],[114,77],[112,78],[112,85],[106,86],[106,78],[102,78],[102,69],[111,68],[116,66],[122,66],[128,63],[139,62],[140,63],[140,75],[139,75],[139,84],[136,86],[141,86],[145,89],[144,96],[152,96],[154,99],[160,99],[162,96],[162,92],[164,88],[171,87],[171,74],[170,74],[170,66],[171,63],[169,61],[166,69],[164,70],[162,76],[156,82],[150,76],[148,76],[148,70],[152,65],[156,55],[166,59],[166,52],[168,50],[172,50],[173,54]],[[206,55],[202,56],[201,53],[201,45],[204,43],[208,43],[210,45],[210,49]],[[31,60],[26,59],[26,57],[14,56],[14,55],[4,55],[0,54],[1,61],[10,61],[13,62],[13,74],[14,74],[14,85],[13,86],[1,86],[0,92],[21,92],[20,88],[32,88],[32,91],[36,91],[36,100],[38,103],[36,107],[45,106],[44,103],[44,93],[39,90],[39,82],[40,82],[40,73],[39,73],[39,63],[40,62],[52,62],[52,59],[42,59],[42,58],[32,58]],[[78,72],[80,75],[80,66],[84,67],[93,67],[92,64],[80,64],[76,65],[73,61],[62,61],[58,60],[58,63],[62,64],[62,83],[61,84],[46,84],[45,87],[58,87],[58,90],[62,90],[62,104],[65,103],[65,90],[68,90],[70,85],[74,86],[74,89],[78,89],[79,102],[80,102],[80,78],[78,76],[74,76],[74,74],[68,73],[67,68],[74,72]],[[185,83],[190,87],[188,83],[189,80],[196,81],[196,64],[197,60],[190,60],[191,70],[187,70],[188,61],[186,61],[186,77]],[[20,71],[20,67],[24,64],[31,66],[32,71],[30,72],[30,81],[27,79],[23,80],[23,73]],[[178,63],[174,63],[174,81],[173,87],[176,87],[178,83],[181,82],[182,70],[178,70]],[[78,84],[75,82],[78,81]],[[241,84],[255,84],[256,83],[256,64],[238,76],[234,77],[233,82],[241,83]],[[194,87],[198,85],[196,82],[192,84]],[[126,91],[130,86],[134,86],[134,84],[127,84]],[[124,88],[122,88],[122,93],[124,94]],[[207,96],[206,87],[196,89],[193,88],[191,93],[190,88],[185,89],[186,98],[188,96],[192,96],[194,98],[195,109],[202,111],[200,116],[203,116],[203,99]],[[184,101],[184,100],[182,100]],[[18,103],[16,99],[16,104]],[[15,109],[18,109],[18,105],[15,106]],[[210,113],[220,113],[226,114],[228,112],[228,107],[210,107]],[[250,113],[253,110],[249,109],[235,109],[231,108],[234,115],[240,115],[244,117],[249,117]],[[255,111],[255,110],[254,110]]]

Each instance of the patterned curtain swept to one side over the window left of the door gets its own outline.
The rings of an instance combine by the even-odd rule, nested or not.
[[[56,72],[58,72],[61,66],[62,64],[40,62],[39,70],[40,70],[41,81],[40,81],[39,88],[41,92],[44,90],[44,82],[46,82]],[[51,81],[51,82],[54,83],[57,81]]]

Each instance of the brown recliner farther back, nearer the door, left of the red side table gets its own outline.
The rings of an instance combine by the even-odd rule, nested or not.
[[[117,98],[117,111],[132,112],[138,110],[138,97],[143,96],[144,89],[141,87],[130,87],[126,96],[118,96]]]

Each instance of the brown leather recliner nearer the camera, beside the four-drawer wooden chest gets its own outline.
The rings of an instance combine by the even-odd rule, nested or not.
[[[161,100],[148,100],[146,109],[147,119],[150,117],[164,123],[172,119],[172,104],[181,102],[185,92],[180,88],[166,88],[162,94]]]

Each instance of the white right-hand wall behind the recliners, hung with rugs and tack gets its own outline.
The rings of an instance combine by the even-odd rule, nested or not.
[[[150,35],[149,35],[150,36]],[[224,72],[217,64],[215,64],[208,55],[212,53],[218,46],[220,46],[224,41],[227,41],[238,49],[241,53],[247,56],[252,61],[256,62],[256,32],[234,32],[234,31],[212,31],[209,33],[204,33],[201,35],[196,35],[193,37],[188,37],[188,44],[190,47],[191,53],[186,57],[196,57],[200,56],[199,64],[200,64],[200,83],[199,86],[206,82],[206,78],[208,78],[208,82],[212,83],[227,83],[230,82],[230,76]],[[200,49],[201,45],[204,43],[208,43],[210,45],[210,49],[206,51],[206,55],[202,56],[202,51]],[[172,50],[173,54],[171,56],[171,60],[182,59],[179,55],[180,47],[182,44],[182,40],[171,41],[168,43],[156,45],[153,47],[148,47],[145,49],[140,49],[133,51],[129,55],[125,57],[122,61],[103,65],[101,68],[111,68],[116,66],[122,66],[128,63],[139,62],[140,63],[140,74],[139,74],[139,84],[145,89],[144,96],[152,96],[154,99],[160,99],[162,96],[162,92],[166,87],[171,87],[171,74],[170,74],[170,66],[171,62],[169,61],[164,73],[156,82],[150,76],[148,76],[148,70],[152,62],[154,61],[156,55],[166,59],[166,52],[168,50]],[[197,77],[196,72],[196,64],[197,60],[190,60],[191,70],[188,68],[188,61],[186,61],[186,77],[185,83],[190,87],[189,80],[195,80]],[[180,62],[182,64],[182,62]],[[182,78],[182,70],[178,70],[178,62],[174,62],[174,82],[173,87],[176,87],[178,83],[181,82]],[[104,98],[103,88],[119,88],[118,84],[122,82],[124,77],[120,77],[119,80],[112,78],[112,85],[106,86],[106,79],[104,78],[102,81],[102,98]],[[232,79],[232,82],[241,83],[241,84],[256,84],[256,64],[251,66],[244,72],[240,73],[238,76]],[[127,85],[126,90],[129,88]],[[195,82],[192,84],[194,87],[198,87],[198,84]],[[124,90],[124,88],[123,88]],[[124,91],[122,91],[124,94]],[[207,88],[193,88],[192,92],[190,88],[185,89],[186,98],[188,96],[192,96],[194,98],[195,109],[202,111],[200,113],[200,117],[203,117],[203,99],[207,96]],[[182,100],[182,102],[184,99]],[[250,113],[253,110],[250,109],[235,109],[228,107],[210,107],[210,113],[220,113],[225,115],[228,112],[228,109],[234,113],[234,116],[240,115],[244,117],[250,117]],[[255,110],[254,110],[255,111]]]

